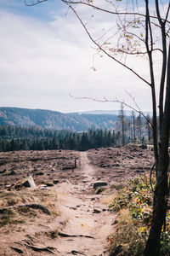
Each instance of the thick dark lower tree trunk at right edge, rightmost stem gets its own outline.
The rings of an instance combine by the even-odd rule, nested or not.
[[[168,195],[168,141],[170,130],[170,47],[167,64],[167,91],[165,108],[161,123],[160,151],[157,169],[157,181],[153,203],[153,219],[150,229],[150,236],[144,250],[145,256],[160,255],[160,236],[161,229],[166,220],[167,195]]]

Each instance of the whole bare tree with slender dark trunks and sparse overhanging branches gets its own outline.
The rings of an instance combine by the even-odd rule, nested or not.
[[[32,0],[33,1],[33,0]],[[45,0],[44,0],[45,1]],[[154,193],[153,203],[153,219],[148,238],[145,255],[160,255],[160,236],[161,228],[166,219],[167,212],[167,195],[168,195],[168,141],[170,130],[170,48],[169,48],[169,31],[170,21],[169,10],[170,3],[163,4],[162,1],[144,0],[141,6],[141,1],[114,1],[114,0],[61,0],[70,8],[77,19],[82,24],[88,37],[92,40],[99,54],[103,53],[110,57],[113,61],[122,67],[126,68],[130,73],[136,76],[144,84],[149,86],[151,92],[151,102],[153,117],[150,126],[153,132],[153,144],[156,166],[156,189]],[[36,0],[35,0],[36,2]],[[32,2],[32,4],[36,3]],[[82,8],[87,8],[94,11],[91,15],[106,15],[112,17],[112,22],[116,30],[111,27],[103,31],[96,38],[93,35],[93,30],[90,30],[89,17],[83,15]],[[112,15],[112,16],[111,16]],[[100,19],[101,20],[101,19]],[[93,22],[93,19],[91,19]],[[99,28],[99,20],[98,20]],[[147,79],[131,65],[131,57],[136,55],[142,56],[148,63]],[[157,122],[157,102],[156,102],[156,69],[155,57],[160,55],[160,81],[157,83],[159,87],[158,96],[158,113],[159,113],[159,131]],[[167,75],[167,81],[166,81]],[[107,102],[106,99],[104,99]],[[158,134],[159,132],[159,134]]]

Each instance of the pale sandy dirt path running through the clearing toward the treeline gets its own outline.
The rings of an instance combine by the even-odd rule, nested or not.
[[[57,187],[59,194],[59,210],[65,227],[55,247],[60,256],[86,255],[104,256],[106,238],[112,232],[113,214],[107,211],[109,197],[95,195],[93,184],[97,181],[94,169],[89,165],[86,152],[81,154],[81,169],[74,172],[75,183],[60,183]],[[79,169],[79,170],[78,170]],[[64,236],[64,235],[63,235]]]

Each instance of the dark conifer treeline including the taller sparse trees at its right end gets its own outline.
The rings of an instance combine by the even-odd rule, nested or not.
[[[0,151],[122,147],[127,143],[152,143],[150,116],[126,116],[123,106],[117,116],[116,130],[90,129],[84,132],[42,129],[37,126],[0,125]]]

